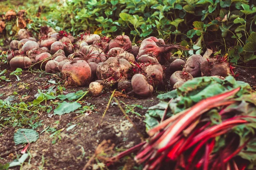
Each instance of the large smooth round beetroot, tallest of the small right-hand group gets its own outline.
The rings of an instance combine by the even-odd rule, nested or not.
[[[201,76],[201,63],[206,59],[201,55],[194,54],[188,58],[186,64],[183,68],[183,71],[190,73],[193,77]]]

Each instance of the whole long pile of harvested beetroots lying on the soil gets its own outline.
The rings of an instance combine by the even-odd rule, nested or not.
[[[8,60],[11,68],[40,68],[47,73],[61,72],[66,85],[89,85],[93,95],[99,95],[105,85],[117,84],[120,91],[130,95],[150,96],[154,88],[166,83],[162,64],[172,58],[174,49],[189,50],[180,45],[167,45],[163,39],[148,37],[140,47],[132,46],[126,35],[111,40],[97,34],[83,33],[73,37],[65,31],[56,32],[42,27],[39,40],[25,29],[12,40]],[[185,62],[176,59],[169,65],[173,73],[170,85],[177,88],[193,77],[230,74],[222,58],[206,59],[192,55]]]

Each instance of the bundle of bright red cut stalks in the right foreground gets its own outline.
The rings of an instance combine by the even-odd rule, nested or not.
[[[253,94],[247,99],[244,96],[235,99],[239,90],[209,97],[164,120],[166,109],[160,124],[148,131],[148,142],[119,153],[109,159],[107,165],[139,150],[134,159],[144,164],[143,170],[248,168],[256,158],[256,109],[255,105],[249,107],[255,104],[256,98]],[[217,112],[220,122],[213,123],[209,119],[210,110]]]

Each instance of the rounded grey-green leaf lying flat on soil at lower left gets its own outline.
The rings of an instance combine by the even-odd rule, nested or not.
[[[15,144],[26,144],[36,142],[39,134],[33,129],[19,129],[14,133]]]

